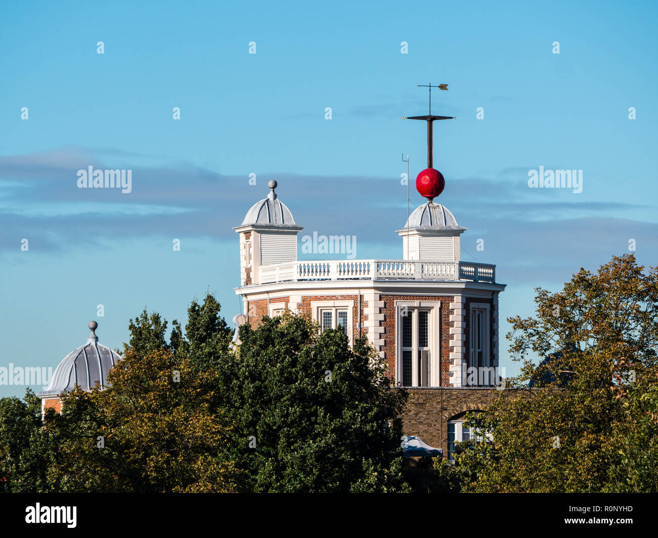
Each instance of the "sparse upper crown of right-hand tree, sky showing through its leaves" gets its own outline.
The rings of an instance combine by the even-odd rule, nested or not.
[[[530,352],[541,358],[568,355],[565,364],[555,363],[562,368],[593,350],[627,363],[656,364],[658,268],[645,274],[634,254],[613,257],[596,274],[581,268],[563,291],[536,291],[537,316],[508,320],[513,328],[510,352],[516,360],[528,364]],[[551,370],[550,363],[544,366]]]

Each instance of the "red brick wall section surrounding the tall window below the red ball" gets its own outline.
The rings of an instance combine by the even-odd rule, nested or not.
[[[440,364],[441,364],[441,386],[449,386],[448,372],[450,371],[450,353],[453,348],[448,344],[451,340],[450,328],[453,322],[450,321],[450,315],[453,310],[450,308],[450,303],[453,302],[454,297],[451,295],[442,295],[440,297],[427,296],[427,295],[382,295],[380,297],[384,301],[384,327],[383,351],[386,353],[387,374],[390,378],[395,379],[395,301],[440,301],[441,302],[441,335],[440,335]]]

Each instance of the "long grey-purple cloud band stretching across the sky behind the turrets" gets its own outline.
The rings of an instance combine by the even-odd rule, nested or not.
[[[0,157],[0,251],[18,250],[22,238],[30,238],[31,249],[49,251],[90,236],[228,239],[249,207],[266,197],[271,178],[278,180],[277,193],[296,222],[305,226],[302,235],[357,235],[361,245],[390,245],[392,251],[401,244],[395,230],[405,224],[407,204],[399,181],[280,172],[259,174],[257,185],[249,185],[243,176],[178,164],[132,167],[130,194],[76,186],[81,168],[119,168],[115,155],[131,168],[125,164],[133,157],[129,153],[79,147]],[[650,207],[646,203],[580,201],[562,192],[549,197],[524,187],[506,179],[463,178],[451,181],[440,200],[468,228],[463,258],[497,264],[499,280],[568,277],[590,260],[603,263],[627,251],[628,239],[644,255],[657,257],[658,224],[628,218]],[[422,203],[413,198],[410,210]],[[476,239],[484,239],[484,251],[476,250]]]

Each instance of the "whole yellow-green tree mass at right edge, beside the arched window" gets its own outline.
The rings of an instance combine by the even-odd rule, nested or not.
[[[537,292],[536,317],[509,319],[520,376],[471,417],[491,441],[437,463],[443,479],[478,492],[658,491],[656,268],[613,257]]]

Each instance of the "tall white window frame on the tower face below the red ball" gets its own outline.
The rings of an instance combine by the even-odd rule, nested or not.
[[[407,315],[411,314],[411,386],[420,387],[418,372],[418,311],[428,310],[427,320],[427,347],[430,352],[430,379],[429,387],[438,387],[441,378],[441,301],[395,301],[395,381],[402,385],[402,312],[407,308]]]

